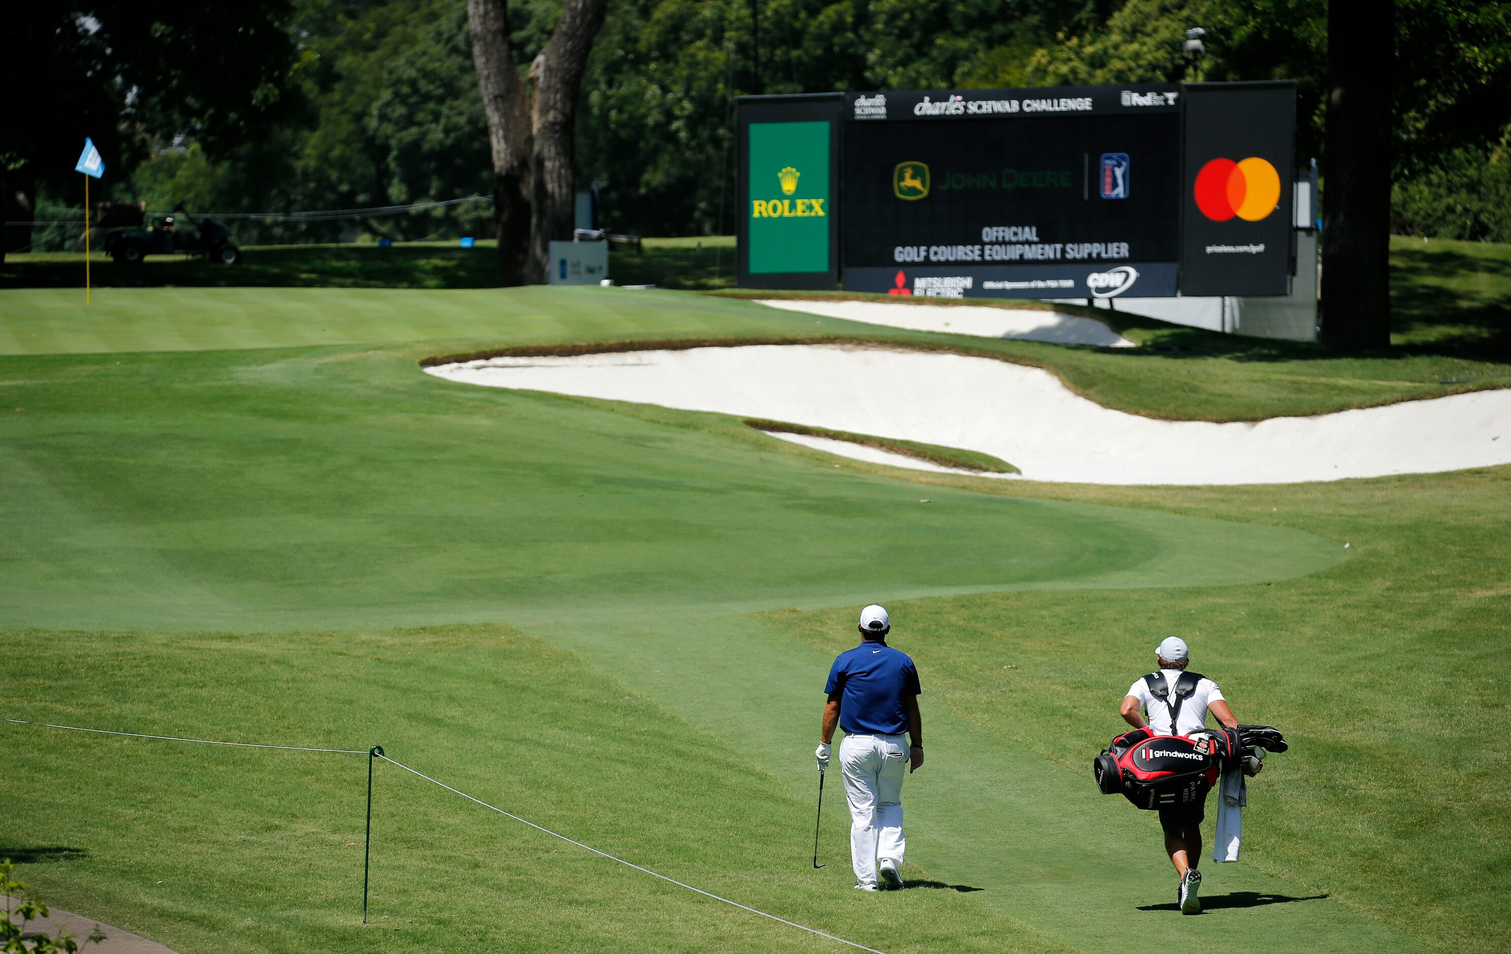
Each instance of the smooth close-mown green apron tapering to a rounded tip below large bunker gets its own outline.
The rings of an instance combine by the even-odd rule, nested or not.
[[[724,419],[438,383],[387,352],[14,361],[12,626],[269,632],[1236,584],[1339,544],[836,470]],[[32,383],[27,383],[32,381]],[[701,425],[701,426],[700,426]]]

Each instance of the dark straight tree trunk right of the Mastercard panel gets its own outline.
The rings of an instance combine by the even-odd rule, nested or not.
[[[1393,0],[1367,15],[1328,5],[1321,340],[1342,348],[1390,346],[1393,14]]]

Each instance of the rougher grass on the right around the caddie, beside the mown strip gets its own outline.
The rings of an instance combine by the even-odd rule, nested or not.
[[[922,478],[935,481],[956,478]],[[1337,570],[1272,585],[888,609],[908,614],[910,647],[943,705],[1077,773],[1088,744],[1121,724],[1117,705],[1153,647],[1186,638],[1192,668],[1222,685],[1242,721],[1280,726],[1292,741],[1250,789],[1244,863],[1443,949],[1511,943],[1511,919],[1491,900],[1511,887],[1506,751],[1485,744],[1511,715],[1511,469],[1296,487],[970,484],[1349,543],[1355,558]],[[778,615],[813,646],[845,643],[840,611]]]

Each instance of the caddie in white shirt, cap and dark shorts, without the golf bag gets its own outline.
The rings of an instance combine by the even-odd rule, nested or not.
[[[1185,640],[1170,637],[1154,650],[1157,670],[1139,677],[1123,698],[1120,714],[1135,729],[1148,727],[1154,735],[1191,735],[1207,724],[1207,712],[1228,729],[1238,729],[1238,718],[1222,697],[1222,689],[1201,673],[1188,671],[1191,652]],[[1142,712],[1141,712],[1142,711]],[[1145,715],[1148,721],[1145,723]],[[1176,900],[1182,913],[1197,915],[1201,901],[1201,821],[1206,801],[1159,810],[1159,827],[1165,830],[1165,853],[1176,865],[1180,887]]]

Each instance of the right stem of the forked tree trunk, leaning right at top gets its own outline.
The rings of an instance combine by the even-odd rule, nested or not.
[[[607,0],[567,0],[550,42],[530,68],[535,83],[530,281],[547,280],[552,240],[570,239],[573,234],[577,94],[606,6]]]

